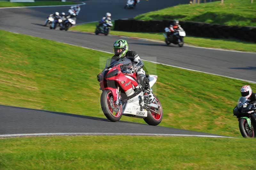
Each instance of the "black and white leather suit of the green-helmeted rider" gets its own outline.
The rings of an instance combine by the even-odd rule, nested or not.
[[[142,88],[145,89],[147,78],[145,75],[145,71],[143,70],[144,63],[135,51],[128,50],[126,55],[123,58],[118,58],[116,56],[113,56],[111,59],[116,60],[118,62],[121,62],[122,60],[127,60],[127,59],[131,60],[132,66],[138,67],[138,70],[136,72],[137,80],[142,86]],[[148,86],[148,83],[147,83],[147,86]]]

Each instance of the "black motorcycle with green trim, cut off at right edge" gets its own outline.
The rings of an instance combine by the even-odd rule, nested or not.
[[[255,137],[256,103],[250,103],[250,100],[240,97],[236,107],[233,109],[233,114],[238,119],[241,135],[246,138]]]

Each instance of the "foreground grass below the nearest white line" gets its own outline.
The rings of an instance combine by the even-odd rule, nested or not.
[[[58,136],[0,139],[0,169],[255,169],[255,140]]]

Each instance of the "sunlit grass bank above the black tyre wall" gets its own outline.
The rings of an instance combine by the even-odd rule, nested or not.
[[[179,19],[224,25],[256,26],[256,3],[250,0],[225,0],[201,4],[184,4],[140,14],[135,19]]]

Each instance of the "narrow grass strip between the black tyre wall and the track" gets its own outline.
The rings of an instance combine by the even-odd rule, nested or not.
[[[94,32],[96,23],[97,22],[78,25],[76,27],[71,27],[71,30]],[[146,39],[152,39],[152,40],[160,40],[164,42],[163,33],[124,32],[124,31],[111,30],[110,34],[129,36],[129,37],[139,37],[139,38],[146,38]],[[186,36],[184,37],[184,42],[186,44],[196,45],[201,47],[256,52],[256,43],[243,42],[243,41],[232,40],[232,39],[214,39],[214,38]]]

